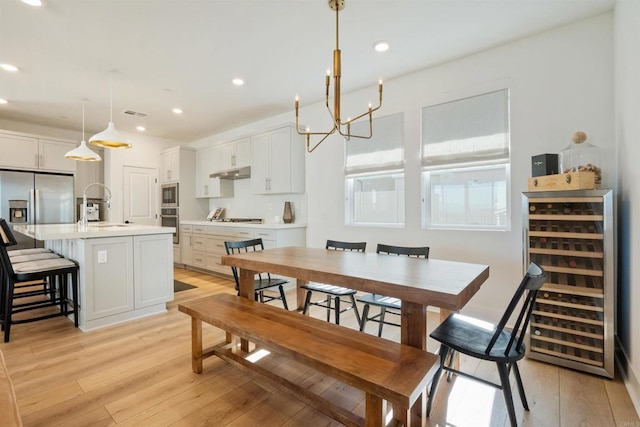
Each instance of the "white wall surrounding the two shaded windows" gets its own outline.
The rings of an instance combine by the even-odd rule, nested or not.
[[[509,43],[405,77],[385,81],[379,115],[405,114],[406,226],[344,225],[344,142],[329,138],[307,155],[307,244],[323,247],[326,239],[366,240],[428,245],[434,258],[490,266],[490,279],[465,308],[497,319],[523,273],[521,194],[531,176],[531,156],[558,153],[573,132],[587,132],[603,149],[605,185],[615,184],[613,154],[612,14],[588,19]],[[343,70],[344,76],[349,73]],[[508,232],[424,230],[420,224],[420,110],[447,99],[491,90],[507,82],[511,88],[511,218]],[[318,86],[319,96],[323,93]],[[343,115],[355,115],[377,96],[376,82],[343,94]],[[293,104],[293,103],[292,103]],[[324,104],[304,107],[301,123],[312,131],[329,126]],[[213,143],[275,124],[295,120],[290,113],[193,143]],[[248,187],[247,187],[248,188]],[[238,191],[234,202],[247,196]],[[240,188],[242,190],[242,188]],[[249,205],[247,205],[249,206]]]

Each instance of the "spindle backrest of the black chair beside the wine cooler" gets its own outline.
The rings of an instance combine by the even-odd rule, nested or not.
[[[507,322],[514,314],[516,307],[521,299],[522,301],[522,309],[520,310],[517,320],[513,325],[513,329],[511,332],[511,338],[509,339],[509,343],[505,348],[505,356],[509,354],[511,348],[513,348],[514,342],[516,342],[516,350],[520,351],[522,348],[522,343],[524,341],[524,336],[527,331],[527,326],[529,325],[529,320],[531,318],[531,312],[533,311],[533,305],[538,296],[538,290],[544,285],[545,280],[547,279],[547,273],[537,264],[531,263],[529,264],[529,268],[527,269],[527,273],[524,275],[522,282],[516,289],[516,293],[513,295],[507,310],[502,315],[500,322],[496,326],[496,331],[489,342],[489,346],[487,347],[486,353],[489,354],[491,349],[495,345],[498,340],[500,334],[504,330]],[[523,298],[524,296],[524,298]]]

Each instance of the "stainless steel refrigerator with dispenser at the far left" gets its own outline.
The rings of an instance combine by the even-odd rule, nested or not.
[[[10,225],[75,222],[73,175],[0,170],[0,213]],[[17,246],[42,247],[43,242],[15,233]]]

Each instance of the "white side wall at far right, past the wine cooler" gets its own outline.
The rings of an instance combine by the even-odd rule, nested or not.
[[[615,138],[618,160],[617,334],[622,374],[640,412],[640,2],[618,0],[615,7]],[[635,327],[635,328],[634,328]]]

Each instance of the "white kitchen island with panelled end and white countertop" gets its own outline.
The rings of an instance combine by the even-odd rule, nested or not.
[[[89,223],[14,230],[78,263],[83,331],[164,312],[173,300],[172,227]]]

